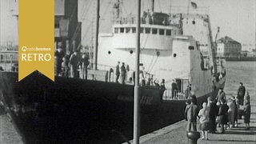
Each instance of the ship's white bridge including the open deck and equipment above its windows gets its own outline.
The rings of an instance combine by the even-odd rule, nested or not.
[[[152,4],[153,6],[153,4]],[[129,14],[120,17],[119,5],[112,17],[112,34],[101,34],[102,38],[111,38],[112,48],[118,50],[134,50],[136,47],[136,18]],[[143,50],[171,50],[172,38],[182,34],[182,15],[144,11],[141,18],[141,48]]]

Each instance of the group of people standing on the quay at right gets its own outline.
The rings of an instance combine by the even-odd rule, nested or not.
[[[225,130],[238,127],[238,119],[244,119],[246,130],[250,129],[250,95],[242,82],[235,96],[226,98],[223,89],[219,89],[216,98],[208,97],[207,102],[202,103],[202,109],[198,110],[197,98],[194,94],[186,101],[185,118],[186,131],[202,132],[202,139],[208,140],[208,133],[225,133]],[[219,130],[217,130],[219,127]]]

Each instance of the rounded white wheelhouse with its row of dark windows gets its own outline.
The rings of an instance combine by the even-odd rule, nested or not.
[[[113,48],[133,50],[136,47],[136,24],[115,24],[113,26]],[[170,50],[172,36],[179,34],[174,26],[142,24],[141,46],[144,50]]]

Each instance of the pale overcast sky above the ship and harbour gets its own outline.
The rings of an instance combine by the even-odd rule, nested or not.
[[[94,16],[93,9],[95,8],[95,0],[79,0],[82,2],[80,8],[80,19],[83,24],[84,33],[88,33],[90,26],[88,23]],[[198,7],[209,7],[210,22],[213,34],[216,33],[217,26],[220,26],[220,37],[230,36],[238,42],[245,44],[255,43],[255,26],[256,26],[256,0],[192,0],[197,3]],[[1,2],[1,42],[11,40],[18,42],[17,38],[17,19],[12,16],[15,9],[15,0],[0,0]],[[113,2],[116,0],[102,0],[101,1],[101,21],[100,31],[110,31],[110,10]],[[136,0],[123,0],[124,9],[123,14],[130,14],[135,12]],[[162,11],[169,13],[177,10],[177,6],[183,6],[186,9],[187,0],[154,0],[155,11]],[[170,9],[170,5],[176,8]],[[90,6],[90,7],[89,7]],[[149,8],[149,0],[142,0],[142,10]],[[86,10],[85,10],[86,9]],[[191,9],[191,8],[190,8]],[[81,9],[80,9],[81,10]],[[91,31],[91,30],[90,30]],[[90,34],[88,34],[90,35]],[[83,37],[83,36],[82,36]],[[87,38],[86,38],[87,39]]]

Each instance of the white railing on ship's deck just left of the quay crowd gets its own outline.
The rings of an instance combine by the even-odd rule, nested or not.
[[[186,100],[189,97],[189,92],[187,90],[174,90],[174,92],[170,89],[165,90],[162,98],[163,100]]]

